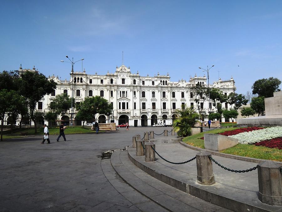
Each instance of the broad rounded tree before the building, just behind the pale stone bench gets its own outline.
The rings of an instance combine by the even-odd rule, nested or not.
[[[80,102],[80,105],[77,109],[81,112],[81,116],[83,117],[91,117],[96,121],[95,115],[99,114],[107,114],[107,111],[110,109],[112,110],[112,105],[101,96],[93,96],[93,97],[86,97],[84,101]],[[82,118],[83,119],[83,118]]]

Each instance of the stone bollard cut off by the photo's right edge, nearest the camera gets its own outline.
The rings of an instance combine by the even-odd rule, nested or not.
[[[282,174],[278,163],[266,160],[258,165],[259,200],[269,205],[282,205]]]

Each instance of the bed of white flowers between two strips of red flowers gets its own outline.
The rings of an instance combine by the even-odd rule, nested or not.
[[[243,132],[230,137],[238,139],[240,144],[254,144],[259,141],[282,137],[282,127],[270,127],[251,132]]]

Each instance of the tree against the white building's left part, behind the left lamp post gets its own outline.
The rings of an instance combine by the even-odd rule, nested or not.
[[[72,99],[72,107],[75,107],[75,100]],[[57,114],[65,116],[65,113],[71,108],[71,98],[66,93],[58,94],[55,96],[55,99],[50,102],[49,108],[56,111]]]

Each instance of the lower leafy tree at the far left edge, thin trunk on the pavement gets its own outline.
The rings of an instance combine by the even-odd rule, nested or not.
[[[8,101],[7,101],[8,100]],[[24,105],[24,98],[14,90],[0,90],[0,118],[1,118],[1,141],[3,140],[3,125],[6,113],[18,114]]]

